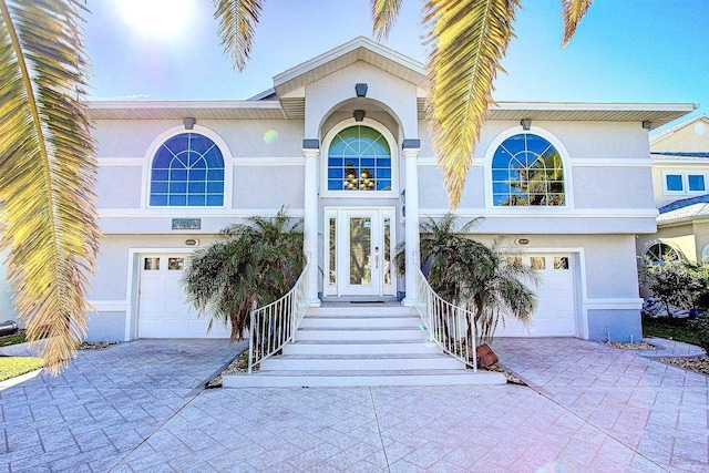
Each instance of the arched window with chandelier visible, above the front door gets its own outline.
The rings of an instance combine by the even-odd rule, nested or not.
[[[350,126],[328,150],[328,191],[391,191],[391,152],[378,131]]]

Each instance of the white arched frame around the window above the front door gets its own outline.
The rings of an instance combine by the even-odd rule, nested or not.
[[[389,145],[389,152],[391,154],[391,191],[330,191],[328,189],[328,156],[330,154],[330,144],[335,136],[345,128],[350,126],[368,126],[379,133],[387,140]],[[348,199],[362,199],[362,198],[399,198],[399,146],[394,135],[379,122],[370,119],[364,119],[361,122],[354,119],[348,119],[343,122],[335,125],[322,138],[322,146],[320,147],[320,196],[329,198],[348,198]]]

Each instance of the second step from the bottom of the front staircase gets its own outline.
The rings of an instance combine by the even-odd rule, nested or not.
[[[381,370],[455,370],[459,360],[446,354],[284,354],[261,362],[266,371],[381,371]]]

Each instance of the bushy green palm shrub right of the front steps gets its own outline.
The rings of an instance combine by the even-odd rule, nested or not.
[[[497,323],[512,316],[528,323],[537,299],[524,281],[536,284],[533,270],[522,266],[516,251],[500,241],[486,246],[465,233],[476,220],[456,229],[456,217],[448,214],[421,225],[421,261],[431,288],[449,302],[470,310],[480,342],[494,337]],[[403,254],[398,255],[401,268]],[[473,320],[467,320],[469,333]],[[473,340],[469,340],[472,345]]]

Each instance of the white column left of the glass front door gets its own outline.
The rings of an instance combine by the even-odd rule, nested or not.
[[[311,140],[304,141],[312,143]],[[306,302],[310,307],[320,305],[318,299],[318,157],[319,147],[304,147],[305,169],[305,206],[302,218],[302,249],[310,264],[306,275]]]

